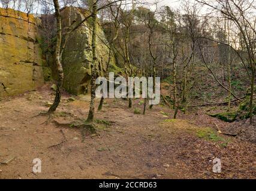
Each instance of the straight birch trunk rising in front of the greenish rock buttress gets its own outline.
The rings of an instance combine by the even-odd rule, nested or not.
[[[86,121],[92,122],[94,120],[94,104],[95,104],[95,90],[96,90],[96,35],[97,35],[97,0],[92,0],[92,64],[91,64],[91,104]]]

